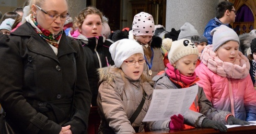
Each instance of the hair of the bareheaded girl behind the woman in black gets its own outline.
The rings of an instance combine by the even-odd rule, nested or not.
[[[88,7],[86,7],[85,9],[83,9],[79,12],[78,16],[76,17],[76,19],[74,21],[73,28],[74,29],[81,28],[86,16],[87,15],[92,15],[92,14],[99,15],[100,19],[101,19],[101,22],[102,22],[102,16],[103,16],[102,12],[94,6],[88,6]]]

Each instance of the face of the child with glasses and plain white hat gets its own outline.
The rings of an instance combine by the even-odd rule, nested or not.
[[[135,62],[135,64],[133,64]],[[143,73],[143,66],[145,59],[141,53],[135,54],[124,60],[121,65],[121,68],[128,77],[133,80],[139,79]]]

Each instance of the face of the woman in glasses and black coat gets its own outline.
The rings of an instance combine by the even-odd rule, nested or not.
[[[41,8],[42,10],[40,10]],[[32,5],[33,14],[37,18],[37,22],[43,29],[51,33],[58,34],[63,30],[66,18],[60,16],[67,15],[67,2],[66,0],[45,0],[41,5]],[[46,12],[46,14],[45,14]],[[50,17],[50,15],[59,15],[57,17]]]

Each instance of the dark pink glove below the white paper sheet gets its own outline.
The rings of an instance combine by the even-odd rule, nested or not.
[[[183,128],[184,118],[181,114],[171,116],[171,122],[169,124],[170,129],[181,129]]]

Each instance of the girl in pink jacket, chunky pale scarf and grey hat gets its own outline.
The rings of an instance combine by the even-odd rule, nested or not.
[[[250,63],[238,50],[239,37],[226,25],[211,32],[213,44],[207,45],[202,54],[202,63],[195,73],[205,95],[213,108],[231,112],[241,120],[256,120],[256,90],[249,75]]]

